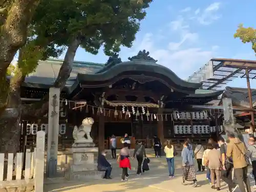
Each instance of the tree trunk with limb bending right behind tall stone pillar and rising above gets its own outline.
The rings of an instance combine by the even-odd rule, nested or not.
[[[76,50],[79,45],[80,40],[78,38],[75,38],[71,42],[60,68],[58,77],[54,83],[54,87],[60,89],[65,87],[66,81],[70,77]],[[22,59],[21,54],[19,55],[19,59]],[[25,76],[22,74],[22,71],[17,69],[17,73],[15,73],[15,76],[10,82],[8,106],[5,113],[3,113],[0,118],[0,127],[3,127],[0,131],[0,140],[3,146],[0,148],[1,152],[16,153],[18,151],[20,139],[19,122],[21,115],[26,118],[39,118],[42,115],[45,115],[48,111],[48,96],[45,97],[42,102],[22,105],[20,100],[20,87],[24,80]]]

